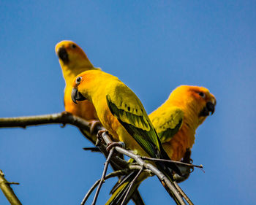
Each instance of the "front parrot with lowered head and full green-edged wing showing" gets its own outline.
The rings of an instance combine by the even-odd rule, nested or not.
[[[72,100],[76,103],[86,99],[94,104],[99,121],[116,142],[124,142],[135,154],[170,160],[140,99],[117,77],[97,70],[79,74],[73,84]],[[170,163],[155,164],[172,181],[171,169],[177,168]],[[140,178],[144,179],[144,174]],[[176,204],[180,204],[172,195]],[[120,200],[113,202],[120,203]]]

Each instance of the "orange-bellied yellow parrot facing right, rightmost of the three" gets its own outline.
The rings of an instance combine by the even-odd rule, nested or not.
[[[172,160],[184,158],[187,150],[190,150],[195,142],[197,127],[206,120],[210,112],[211,115],[214,113],[215,105],[216,99],[208,89],[181,85],[170,93],[164,104],[148,115],[169,158]],[[143,180],[140,179],[141,181],[137,181],[132,190],[138,188]],[[121,201],[119,198],[124,197],[125,187],[129,187],[131,181],[132,174],[131,177],[128,176],[118,182],[111,191],[113,195],[107,204]],[[129,196],[132,196],[132,190]]]

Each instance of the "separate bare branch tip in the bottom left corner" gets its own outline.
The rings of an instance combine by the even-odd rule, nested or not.
[[[4,196],[8,199],[10,204],[12,205],[22,205],[20,200],[17,198],[15,193],[13,192],[10,185],[18,185],[17,182],[8,182],[7,179],[4,178],[4,173],[0,169],[0,189],[4,193]]]

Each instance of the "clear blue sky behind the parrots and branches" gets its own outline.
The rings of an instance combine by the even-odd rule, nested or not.
[[[152,112],[181,84],[217,98],[197,130],[195,170],[181,187],[195,204],[256,202],[255,1],[7,1],[0,3],[0,117],[64,110],[54,53],[70,39],[94,66],[116,75]],[[44,125],[0,130],[0,169],[23,204],[79,204],[105,159],[85,152],[78,129]],[[100,192],[108,199],[114,180]],[[155,177],[146,204],[168,204]],[[8,204],[0,193],[0,204]],[[89,202],[90,204],[90,202]]]

